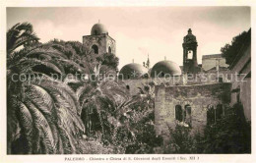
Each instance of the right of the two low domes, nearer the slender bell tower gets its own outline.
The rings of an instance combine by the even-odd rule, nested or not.
[[[156,76],[157,75],[157,76]],[[160,61],[154,65],[151,71],[151,77],[169,77],[180,76],[181,70],[179,66],[172,61]]]

